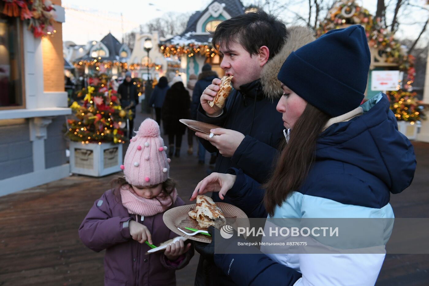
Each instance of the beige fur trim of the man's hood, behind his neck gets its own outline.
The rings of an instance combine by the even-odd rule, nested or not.
[[[277,79],[281,66],[291,52],[314,40],[314,32],[308,27],[292,26],[287,29],[283,48],[264,65],[261,71],[261,84],[266,97],[275,99],[283,94],[281,82]]]

